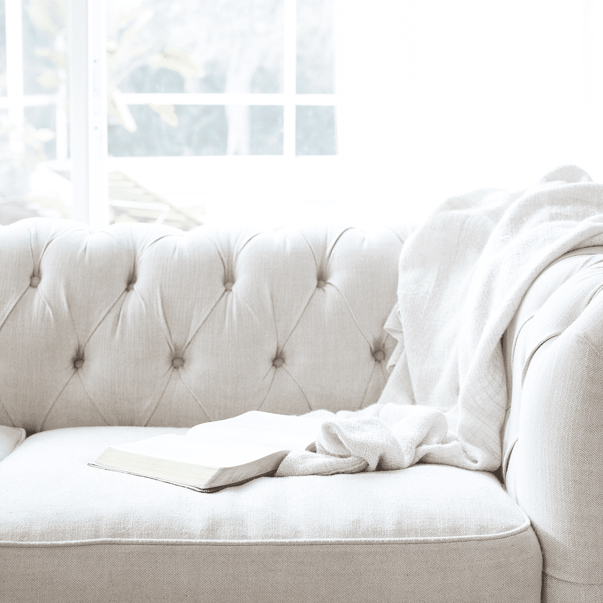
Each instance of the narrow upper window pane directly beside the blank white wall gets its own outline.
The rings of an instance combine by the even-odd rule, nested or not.
[[[333,93],[333,0],[297,0],[297,93]]]

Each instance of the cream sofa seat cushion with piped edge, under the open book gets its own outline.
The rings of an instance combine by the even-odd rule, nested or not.
[[[203,494],[87,466],[111,444],[186,431],[54,429],[0,463],[3,601],[69,601],[69,589],[86,601],[148,589],[166,601],[540,600],[538,541],[489,473],[418,464]]]

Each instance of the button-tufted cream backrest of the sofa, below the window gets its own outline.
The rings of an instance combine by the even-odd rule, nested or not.
[[[0,425],[187,427],[377,401],[408,229],[0,229]]]

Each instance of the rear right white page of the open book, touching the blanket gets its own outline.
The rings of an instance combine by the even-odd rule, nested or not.
[[[249,411],[238,417],[208,421],[186,432],[186,440],[228,440],[244,446],[262,444],[274,450],[305,450],[320,432],[324,418],[295,417],[273,412]]]

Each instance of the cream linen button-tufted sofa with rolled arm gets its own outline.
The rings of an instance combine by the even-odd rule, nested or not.
[[[603,248],[547,268],[505,333],[496,476],[200,494],[87,466],[252,409],[377,402],[408,233],[2,227],[0,425],[28,437],[0,463],[0,601],[602,601]]]

